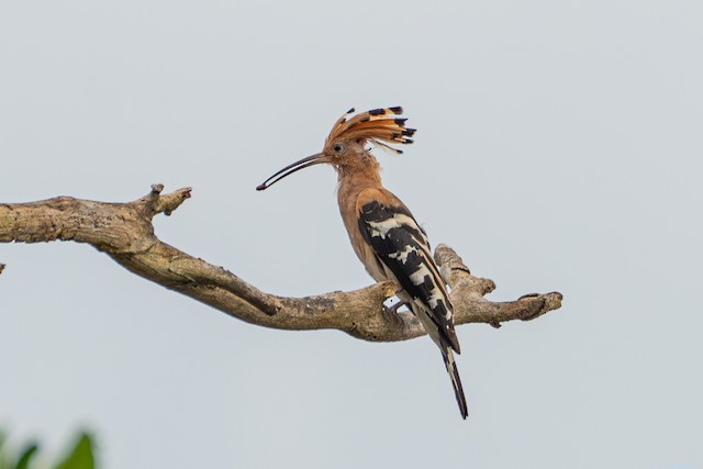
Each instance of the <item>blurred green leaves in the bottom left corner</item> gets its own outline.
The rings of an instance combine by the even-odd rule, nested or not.
[[[7,446],[7,435],[0,432],[0,469],[37,469],[33,458],[38,451],[36,443],[27,444],[19,456],[14,456]],[[94,469],[92,455],[92,439],[89,434],[81,432],[76,442],[66,450],[62,460],[52,465],[52,469]]]

